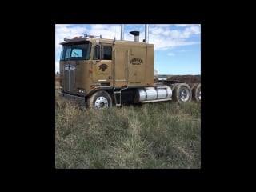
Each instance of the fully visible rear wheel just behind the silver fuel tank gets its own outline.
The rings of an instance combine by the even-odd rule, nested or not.
[[[173,100],[181,104],[182,102],[190,102],[192,98],[192,92],[190,86],[186,83],[178,83],[174,86]]]

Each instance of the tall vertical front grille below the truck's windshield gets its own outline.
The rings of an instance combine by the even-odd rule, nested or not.
[[[74,90],[74,66],[64,66],[64,90],[71,92]]]

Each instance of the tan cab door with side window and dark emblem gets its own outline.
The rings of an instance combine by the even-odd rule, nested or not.
[[[93,82],[110,86],[112,82],[112,45],[94,46]]]

